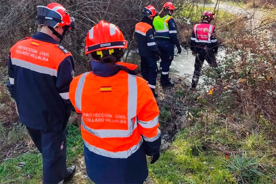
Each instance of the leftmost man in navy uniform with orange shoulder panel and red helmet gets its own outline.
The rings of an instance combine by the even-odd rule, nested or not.
[[[19,121],[26,126],[42,153],[43,183],[63,183],[75,174],[66,168],[66,125],[73,108],[69,86],[74,77],[70,52],[59,45],[74,28],[63,6],[37,6],[36,25],[41,31],[18,41],[10,49],[9,88],[16,102]]]

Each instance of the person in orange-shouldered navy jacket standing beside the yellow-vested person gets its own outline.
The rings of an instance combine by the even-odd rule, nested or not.
[[[157,78],[157,61],[160,59],[160,52],[155,43],[153,17],[157,15],[154,6],[147,6],[143,10],[144,17],[135,26],[135,35],[138,42],[139,55],[141,56],[141,74],[148,82],[148,86],[154,97]]]

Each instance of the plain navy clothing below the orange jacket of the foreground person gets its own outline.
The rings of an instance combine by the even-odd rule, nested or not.
[[[127,159],[97,155],[84,145],[84,158],[88,177],[96,184],[142,184],[148,177],[143,145]]]

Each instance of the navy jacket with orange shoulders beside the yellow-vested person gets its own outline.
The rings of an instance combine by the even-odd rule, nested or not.
[[[146,31],[140,30],[139,29],[140,27],[137,26],[139,24],[141,24],[140,26],[143,26],[146,29]],[[144,57],[160,56],[159,50],[155,43],[154,35],[155,35],[155,30],[152,25],[152,20],[148,17],[143,17],[141,22],[136,24],[136,29],[135,29],[135,36],[137,39],[140,56],[144,56]]]

